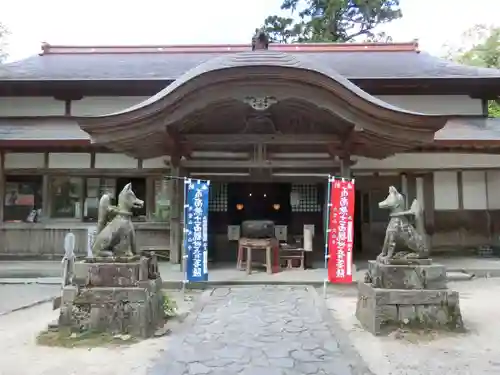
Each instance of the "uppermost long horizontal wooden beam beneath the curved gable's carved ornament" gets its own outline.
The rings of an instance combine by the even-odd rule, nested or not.
[[[266,144],[266,145],[328,145],[340,144],[328,134],[186,134],[183,142],[196,145]]]

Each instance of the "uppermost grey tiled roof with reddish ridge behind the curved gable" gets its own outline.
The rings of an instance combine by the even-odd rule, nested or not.
[[[419,52],[416,44],[298,44],[271,50],[299,55],[348,79],[500,78],[500,70],[463,66]],[[0,67],[2,80],[175,80],[247,45],[105,46],[44,45],[43,53]]]

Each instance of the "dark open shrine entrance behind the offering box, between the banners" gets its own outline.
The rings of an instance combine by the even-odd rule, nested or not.
[[[215,263],[236,261],[237,241],[228,239],[228,227],[240,226],[245,220],[271,220],[286,226],[289,244],[301,241],[304,225],[314,226],[313,251],[306,256],[307,267],[324,266],[325,182],[213,182],[209,207],[209,258]],[[293,202],[292,195],[300,197]],[[362,194],[356,192],[355,249],[359,256],[362,236]]]

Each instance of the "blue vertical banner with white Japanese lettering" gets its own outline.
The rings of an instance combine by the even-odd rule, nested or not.
[[[184,251],[188,282],[208,281],[208,191],[210,181],[185,180]]]

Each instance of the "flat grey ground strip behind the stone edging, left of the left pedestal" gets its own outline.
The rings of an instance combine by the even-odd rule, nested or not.
[[[61,293],[59,285],[0,285],[0,315]]]

